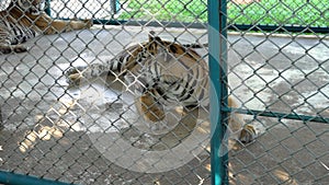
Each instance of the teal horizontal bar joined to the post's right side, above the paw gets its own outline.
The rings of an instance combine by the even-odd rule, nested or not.
[[[285,114],[285,113],[277,113],[277,112],[269,112],[269,111],[256,111],[256,109],[242,109],[242,108],[230,108],[230,107],[223,107],[223,112],[227,113],[240,113],[240,114],[248,114],[248,115],[257,115],[257,116],[266,116],[266,117],[275,117],[280,119],[295,119],[295,120],[303,120],[303,122],[317,122],[317,123],[325,123],[329,124],[328,117],[321,116],[307,116],[300,114]]]

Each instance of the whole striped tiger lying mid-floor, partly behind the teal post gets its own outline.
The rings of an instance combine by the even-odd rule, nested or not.
[[[208,106],[208,67],[202,56],[183,45],[162,41],[151,31],[148,42],[127,47],[105,63],[70,67],[66,71],[69,84],[102,74],[124,77],[134,86],[135,105],[145,119],[152,123],[164,118],[163,105],[177,104],[191,108]],[[228,106],[238,107],[232,96]],[[246,124],[242,115],[230,113],[228,128],[242,143],[257,137],[256,128]]]

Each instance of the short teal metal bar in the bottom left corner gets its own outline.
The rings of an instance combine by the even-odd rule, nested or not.
[[[58,181],[0,171],[0,183],[8,185],[72,185]]]

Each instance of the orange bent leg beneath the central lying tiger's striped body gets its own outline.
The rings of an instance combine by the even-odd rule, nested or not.
[[[136,100],[136,107],[146,120],[156,123],[164,118],[163,106],[156,101],[150,92],[143,94]]]

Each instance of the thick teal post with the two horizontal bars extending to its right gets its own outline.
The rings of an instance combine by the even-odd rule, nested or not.
[[[228,157],[219,154],[225,146],[220,146],[224,139],[225,122],[230,112],[275,117],[279,119],[296,119],[302,122],[317,122],[329,124],[329,118],[321,116],[307,116],[296,113],[284,114],[270,111],[254,111],[230,108],[227,105],[227,30],[239,28],[243,31],[275,31],[275,32],[303,32],[303,33],[329,33],[328,27],[304,27],[304,26],[276,26],[276,25],[227,25],[226,0],[208,0],[208,44],[209,44],[209,78],[212,88],[211,96],[211,165],[212,185],[228,184]],[[218,115],[219,117],[216,117]]]

